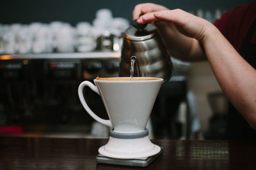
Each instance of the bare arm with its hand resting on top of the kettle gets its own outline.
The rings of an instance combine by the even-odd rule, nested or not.
[[[221,89],[256,130],[256,70],[237,53],[221,32],[207,20],[182,10],[147,13],[138,19],[138,23],[152,20],[172,22],[184,36],[202,43]]]

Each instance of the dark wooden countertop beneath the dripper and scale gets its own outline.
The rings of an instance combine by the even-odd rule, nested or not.
[[[107,141],[0,136],[0,169],[143,169],[97,164]],[[152,141],[164,149],[145,169],[256,169],[255,141]]]

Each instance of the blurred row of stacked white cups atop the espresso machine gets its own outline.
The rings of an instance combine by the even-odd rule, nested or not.
[[[60,21],[50,24],[0,24],[0,53],[93,51],[97,46],[97,38],[106,32],[120,38],[127,27],[129,22],[125,18],[113,18],[108,9],[98,10],[92,25],[79,22],[76,27],[72,27]]]

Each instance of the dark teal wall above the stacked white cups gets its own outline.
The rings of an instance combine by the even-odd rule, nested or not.
[[[254,0],[255,1],[255,0]],[[181,8],[186,11],[197,10],[230,10],[239,4],[251,3],[253,0],[2,0],[0,5],[0,23],[12,24],[60,20],[75,25],[77,22],[92,22],[95,12],[100,8],[109,8],[113,17],[124,17],[131,20],[131,13],[138,3],[157,3],[168,8]]]

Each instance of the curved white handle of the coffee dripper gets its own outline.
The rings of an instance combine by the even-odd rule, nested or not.
[[[83,81],[79,87],[78,87],[78,96],[79,96],[79,99],[84,107],[84,109],[88,112],[88,114],[94,118],[97,122],[100,122],[100,124],[103,124],[103,125],[106,125],[106,126],[109,126],[109,127],[113,127],[113,125],[111,124],[110,120],[105,120],[105,119],[102,119],[100,117],[98,117],[95,113],[93,113],[93,111],[89,108],[88,104],[86,103],[86,101],[84,100],[84,95],[83,95],[83,89],[84,87],[90,87],[90,89],[92,89],[94,92],[96,92],[97,94],[99,94],[99,90],[98,88],[93,85],[93,83],[91,83],[90,81]],[[100,94],[99,94],[100,95]]]

